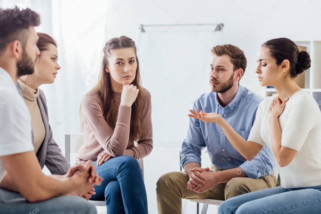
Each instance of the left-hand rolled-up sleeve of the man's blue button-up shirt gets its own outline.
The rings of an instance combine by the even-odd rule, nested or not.
[[[195,111],[195,106],[194,102],[193,111]],[[205,146],[200,121],[190,117],[187,136],[182,144],[181,166],[184,168],[185,164],[190,162],[197,162],[201,165],[201,151]]]

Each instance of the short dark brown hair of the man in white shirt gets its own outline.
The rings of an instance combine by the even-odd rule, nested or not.
[[[40,24],[38,13],[29,8],[13,9],[0,8],[0,55],[4,53],[7,46],[14,40],[19,40],[25,47],[28,38],[28,28]]]

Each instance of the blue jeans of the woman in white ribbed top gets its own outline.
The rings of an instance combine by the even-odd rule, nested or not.
[[[277,186],[246,193],[224,201],[219,213],[321,213],[321,185],[290,189]]]

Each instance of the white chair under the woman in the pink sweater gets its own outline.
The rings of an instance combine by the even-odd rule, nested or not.
[[[79,149],[84,144],[83,135],[65,135],[65,158],[70,163],[70,153],[78,153]],[[144,164],[143,159],[139,159],[138,163],[142,169],[143,178],[144,178]],[[106,206],[105,201],[93,201],[89,200],[94,206]]]

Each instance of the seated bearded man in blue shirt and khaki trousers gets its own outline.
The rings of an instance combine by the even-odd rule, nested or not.
[[[247,140],[257,107],[263,98],[239,85],[247,65],[242,50],[230,44],[217,45],[213,47],[212,53],[212,92],[204,93],[196,99],[193,111],[220,114]],[[200,168],[201,150],[205,147],[213,164],[212,170]],[[267,146],[254,159],[247,161],[233,148],[221,127],[215,123],[204,123],[190,117],[181,156],[185,172],[166,173],[157,182],[160,214],[181,213],[181,198],[226,200],[277,184],[277,179],[271,174],[273,155]]]

